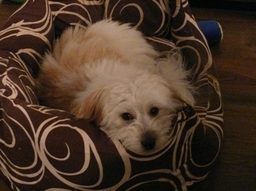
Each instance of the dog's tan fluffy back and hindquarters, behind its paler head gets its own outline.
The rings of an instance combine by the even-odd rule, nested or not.
[[[128,24],[102,20],[88,28],[67,28],[42,61],[36,80],[39,98],[45,106],[69,111],[75,95],[91,80],[86,72],[102,60],[155,71],[155,57],[157,52]]]

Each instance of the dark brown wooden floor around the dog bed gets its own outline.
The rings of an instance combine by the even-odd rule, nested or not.
[[[17,4],[0,4],[0,27]],[[256,12],[192,9],[197,20],[217,20],[224,39],[211,47],[225,109],[225,139],[208,178],[191,190],[256,190]],[[0,179],[0,190],[10,190]]]

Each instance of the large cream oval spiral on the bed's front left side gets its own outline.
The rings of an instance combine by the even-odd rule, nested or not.
[[[79,156],[79,157],[84,157],[84,159],[83,159],[83,165],[81,166],[80,169],[78,169],[78,171],[69,172],[69,173],[64,172],[63,169],[57,169],[56,167],[54,167],[54,165],[48,159],[50,158],[52,160],[62,162],[62,161],[69,160],[69,157],[71,157],[72,155],[69,149],[69,145],[67,143],[65,144],[67,149],[67,155],[65,155],[64,157],[58,156],[58,153],[56,153],[57,156],[50,154],[50,151],[48,150],[49,148],[46,145],[46,141],[50,133],[56,130],[56,128],[60,128],[60,129],[69,128],[69,130],[75,130],[76,133],[78,133],[80,138],[83,140],[81,141],[83,145],[79,145],[79,146],[84,148],[83,153],[85,155]],[[84,130],[81,130],[78,127],[73,127],[72,125],[69,125],[67,119],[56,120],[56,117],[51,117],[48,120],[45,120],[45,122],[43,122],[39,126],[39,129],[37,130],[35,137],[36,137],[35,143],[37,147],[37,153],[40,159],[44,161],[45,167],[48,168],[48,170],[61,182],[65,182],[65,184],[67,184],[69,187],[75,188],[77,190],[85,190],[92,187],[97,187],[102,182],[103,168],[102,168],[102,163],[100,161],[100,157],[97,153],[96,147],[94,146],[94,142],[91,141],[89,135]],[[80,185],[80,184],[75,184],[74,182],[69,181],[69,177],[78,176],[87,171],[87,169],[89,168],[90,160],[91,160],[91,152],[93,153],[95,159],[97,160],[97,165],[99,167],[99,180],[92,185]],[[67,178],[65,178],[64,176],[66,176]]]

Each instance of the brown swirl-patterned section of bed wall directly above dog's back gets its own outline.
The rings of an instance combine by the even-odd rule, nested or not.
[[[143,7],[147,3],[154,7],[149,12],[145,12],[145,7]],[[147,0],[146,2],[107,0],[105,10],[107,11],[105,18],[132,23],[132,26],[143,31],[146,36],[167,36],[169,31],[170,8],[166,0]],[[154,17],[154,15],[157,15],[157,17]],[[152,27],[152,31],[147,30]]]

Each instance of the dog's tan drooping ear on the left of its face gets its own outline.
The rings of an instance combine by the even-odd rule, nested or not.
[[[102,119],[102,108],[105,100],[105,90],[97,90],[91,93],[81,104],[76,117],[99,123]]]

